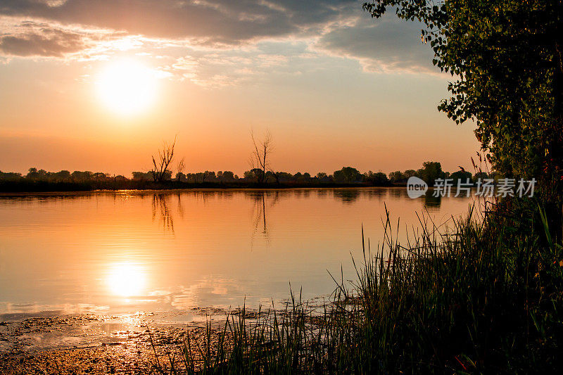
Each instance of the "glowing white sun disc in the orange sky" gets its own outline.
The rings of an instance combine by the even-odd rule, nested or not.
[[[156,98],[155,72],[134,60],[120,60],[101,71],[96,82],[101,102],[120,115],[147,110]]]

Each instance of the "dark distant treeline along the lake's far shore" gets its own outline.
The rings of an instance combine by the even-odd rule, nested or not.
[[[167,170],[164,182],[156,182],[151,172],[132,172],[132,178],[111,175],[102,172],[61,170],[47,172],[30,168],[27,174],[0,171],[0,191],[85,191],[97,189],[180,189],[189,187],[292,187],[292,186],[391,186],[405,184],[412,176],[419,177],[429,184],[438,178],[451,178],[472,181],[477,178],[491,177],[484,172],[475,175],[465,170],[443,172],[441,163],[425,162],[419,170],[361,173],[354,167],[343,167],[332,174],[319,172],[312,176],[308,172],[267,171],[265,178],[260,178],[262,170],[253,169],[244,172],[242,177],[231,171],[205,171],[196,173]],[[258,184],[263,181],[262,184]]]

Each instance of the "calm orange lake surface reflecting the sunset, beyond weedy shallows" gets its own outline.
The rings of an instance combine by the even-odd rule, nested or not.
[[[417,226],[472,198],[410,199],[405,188],[94,192],[0,197],[0,313],[72,314],[271,304],[353,278],[363,224],[377,243],[384,204]],[[412,230],[412,229],[411,229]]]

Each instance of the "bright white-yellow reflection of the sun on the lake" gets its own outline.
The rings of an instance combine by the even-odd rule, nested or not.
[[[139,265],[122,262],[111,266],[107,281],[114,295],[131,297],[140,295],[144,290],[146,276],[144,269]]]

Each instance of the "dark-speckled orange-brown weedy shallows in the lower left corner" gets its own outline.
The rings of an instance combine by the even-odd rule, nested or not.
[[[0,374],[147,374],[156,364],[155,350],[161,364],[172,360],[182,369],[188,335],[200,340],[206,322],[218,326],[227,312],[42,315],[2,316]]]

